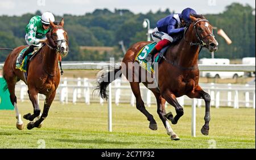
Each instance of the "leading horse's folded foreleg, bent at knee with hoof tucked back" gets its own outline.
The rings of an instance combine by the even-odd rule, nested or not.
[[[162,95],[164,99],[166,99],[166,101],[170,103],[170,105],[175,107],[176,111],[175,117],[172,115],[172,113],[167,113],[164,116],[166,116],[167,119],[171,120],[172,124],[177,124],[180,117],[184,114],[183,107],[180,106],[179,102],[177,102],[176,96],[170,90],[166,90],[165,92],[163,92]]]

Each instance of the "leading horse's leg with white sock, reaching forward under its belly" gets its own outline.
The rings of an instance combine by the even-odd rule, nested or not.
[[[156,98],[156,103],[158,105],[157,113],[159,118],[162,120],[164,127],[166,128],[167,135],[171,136],[171,140],[180,140],[179,136],[172,130],[167,118],[164,116],[166,115],[165,103],[166,100],[160,95],[160,93],[153,92]]]

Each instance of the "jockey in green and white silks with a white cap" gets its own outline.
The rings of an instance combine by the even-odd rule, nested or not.
[[[34,47],[42,46],[46,42],[46,33],[51,29],[49,27],[49,20],[55,21],[51,12],[44,12],[42,16],[34,16],[30,19],[26,27],[25,40],[29,45],[28,49],[24,51],[23,55],[18,57],[18,63],[21,64],[24,57],[34,51]]]

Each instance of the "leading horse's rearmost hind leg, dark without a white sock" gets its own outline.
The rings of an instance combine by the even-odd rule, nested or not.
[[[149,128],[152,130],[158,129],[158,126],[155,122],[154,117],[150,113],[148,113],[148,111],[144,106],[144,102],[142,101],[142,98],[141,98],[141,91],[139,90],[139,83],[131,82],[130,85],[131,85],[131,90],[133,90],[133,94],[136,97],[136,107],[139,111],[141,111],[147,117],[147,120],[150,122]]]

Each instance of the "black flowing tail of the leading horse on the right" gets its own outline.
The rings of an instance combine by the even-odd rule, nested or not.
[[[112,81],[122,76],[121,64],[110,65],[97,74],[97,87],[94,90],[100,90],[100,97],[108,100],[106,88]]]

